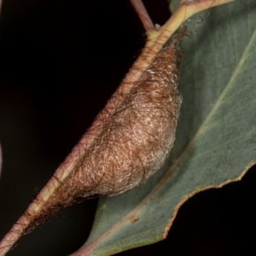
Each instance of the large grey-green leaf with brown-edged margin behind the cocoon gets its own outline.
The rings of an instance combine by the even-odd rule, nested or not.
[[[145,186],[99,201],[83,253],[112,255],[167,236],[189,197],[240,180],[256,161],[256,2],[214,8],[184,40],[175,147]],[[190,30],[191,30],[190,29]]]

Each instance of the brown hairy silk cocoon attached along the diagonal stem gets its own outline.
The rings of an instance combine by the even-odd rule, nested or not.
[[[26,231],[77,200],[137,188],[163,166],[173,147],[182,102],[178,62],[175,47],[165,47],[129,93],[113,94],[112,100],[121,99],[120,103],[102,110],[102,122],[94,128],[98,135],[90,138],[92,143],[81,152],[74,172],[42,211],[31,214]]]

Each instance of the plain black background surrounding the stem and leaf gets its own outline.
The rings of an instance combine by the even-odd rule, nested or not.
[[[154,22],[166,0],[145,0]],[[6,0],[0,19],[0,237],[63,161],[143,47],[127,0]],[[180,208],[168,238],[119,255],[255,255],[252,168]],[[68,207],[9,255],[68,255],[81,246],[97,200]]]

